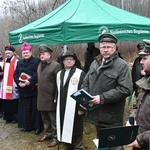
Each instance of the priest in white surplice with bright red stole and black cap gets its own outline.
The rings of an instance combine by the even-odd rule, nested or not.
[[[3,119],[6,123],[18,121],[18,100],[17,85],[14,82],[14,72],[17,65],[15,49],[11,45],[5,47],[3,63],[3,79],[0,87],[0,99],[2,99]]]

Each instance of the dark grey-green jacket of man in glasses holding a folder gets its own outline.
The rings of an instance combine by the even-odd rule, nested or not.
[[[100,95],[99,108],[88,113],[91,123],[104,127],[123,125],[125,99],[132,90],[131,73],[127,63],[115,52],[112,57],[102,62],[102,56],[91,64],[82,87],[91,95]]]

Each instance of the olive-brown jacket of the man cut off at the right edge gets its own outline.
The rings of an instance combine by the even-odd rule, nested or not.
[[[148,150],[150,142],[150,76],[143,77],[136,83],[139,87],[135,118],[139,125],[137,141],[142,150]]]

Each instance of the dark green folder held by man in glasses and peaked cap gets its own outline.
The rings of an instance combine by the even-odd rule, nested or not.
[[[84,89],[80,89],[80,90],[76,91],[75,93],[73,93],[71,95],[71,97],[74,100],[76,100],[77,103],[79,103],[82,106],[84,106],[88,111],[91,111],[91,110],[99,107],[99,105],[93,105],[92,103],[90,103],[90,100],[92,100],[93,98]]]

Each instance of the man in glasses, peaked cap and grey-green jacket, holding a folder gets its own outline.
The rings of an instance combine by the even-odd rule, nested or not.
[[[116,51],[117,38],[104,33],[98,40],[101,54],[92,62],[82,85],[93,97],[90,102],[99,106],[88,112],[89,121],[96,127],[97,137],[100,128],[123,125],[125,99],[132,90],[129,67]],[[123,147],[112,149],[121,150]]]

